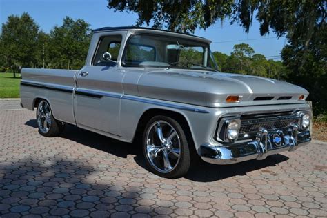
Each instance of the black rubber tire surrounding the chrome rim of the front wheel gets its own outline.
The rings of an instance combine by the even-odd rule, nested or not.
[[[154,166],[154,164],[152,164],[152,162],[150,161],[150,157],[148,156],[148,132],[151,131],[152,128],[155,128],[155,123],[158,122],[165,122],[168,123],[168,125],[172,128],[175,129],[175,131],[177,132],[177,140],[179,140],[179,157],[178,161],[176,161],[174,168],[170,171],[170,172],[160,172],[156,166]],[[149,129],[150,128],[150,129]],[[184,175],[186,175],[186,173],[188,172],[188,169],[190,168],[190,148],[189,148],[189,143],[188,143],[188,139],[186,138],[186,131],[188,129],[183,125],[180,124],[177,120],[171,118],[171,117],[167,117],[167,116],[155,116],[152,117],[152,119],[150,119],[150,121],[148,121],[148,123],[146,124],[146,127],[144,129],[143,132],[143,142],[142,142],[142,150],[143,150],[143,155],[146,159],[146,164],[148,166],[148,168],[150,168],[150,170],[152,172],[154,172],[156,175],[159,175],[160,177],[166,177],[166,178],[179,178],[179,177],[183,177]],[[156,135],[157,137],[157,135]],[[158,138],[159,139],[159,138]],[[167,138],[168,139],[168,138]],[[164,153],[163,151],[161,151],[162,153]],[[157,152],[159,154],[159,152]],[[173,156],[173,155],[172,155]],[[164,157],[164,155],[163,155]],[[157,158],[157,157],[156,157]]]

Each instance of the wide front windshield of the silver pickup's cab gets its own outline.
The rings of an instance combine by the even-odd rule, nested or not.
[[[184,38],[135,34],[130,37],[123,66],[215,70],[208,44]]]

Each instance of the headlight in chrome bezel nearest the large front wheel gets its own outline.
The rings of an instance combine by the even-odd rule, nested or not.
[[[239,117],[222,118],[217,129],[217,141],[224,143],[232,143],[237,141],[240,127],[241,120]]]

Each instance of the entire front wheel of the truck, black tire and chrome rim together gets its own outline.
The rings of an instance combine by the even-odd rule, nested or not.
[[[166,178],[186,175],[190,150],[181,125],[170,117],[155,116],[143,133],[143,154],[150,170]]]

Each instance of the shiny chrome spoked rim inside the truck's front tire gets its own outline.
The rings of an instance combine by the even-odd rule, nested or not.
[[[146,158],[153,168],[171,172],[179,164],[181,141],[178,132],[166,121],[155,121],[146,131]]]

